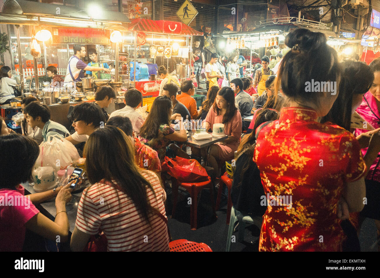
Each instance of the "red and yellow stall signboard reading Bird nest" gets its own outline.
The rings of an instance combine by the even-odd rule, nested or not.
[[[54,44],[109,44],[109,32],[92,28],[53,28]]]

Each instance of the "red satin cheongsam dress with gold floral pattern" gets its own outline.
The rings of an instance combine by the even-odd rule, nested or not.
[[[347,182],[364,175],[359,151],[352,134],[318,123],[313,109],[283,108],[279,120],[264,126],[253,161],[265,194],[289,196],[291,204],[268,200],[259,250],[341,251],[337,203]]]

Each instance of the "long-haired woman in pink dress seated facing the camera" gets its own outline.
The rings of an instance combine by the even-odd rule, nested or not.
[[[215,143],[209,150],[209,165],[214,168],[216,177],[220,177],[219,164],[234,158],[242,131],[241,115],[235,106],[234,92],[230,87],[219,90],[214,105],[203,121],[203,127],[209,130],[214,123],[223,123],[224,133],[228,135],[227,139]]]

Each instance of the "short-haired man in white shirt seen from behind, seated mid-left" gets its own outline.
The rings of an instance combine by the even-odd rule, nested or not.
[[[137,89],[129,89],[124,94],[124,103],[125,107],[123,109],[112,112],[109,118],[112,118],[114,116],[128,117],[132,122],[133,132],[139,134],[140,128],[144,123],[144,119],[135,110],[141,106],[142,93]]]

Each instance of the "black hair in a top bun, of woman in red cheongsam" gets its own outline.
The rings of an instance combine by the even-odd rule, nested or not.
[[[306,92],[306,84],[315,82],[336,82],[340,66],[336,51],[326,44],[326,35],[298,28],[285,38],[291,50],[283,57],[275,91],[279,88],[294,101],[321,105],[322,94]]]

